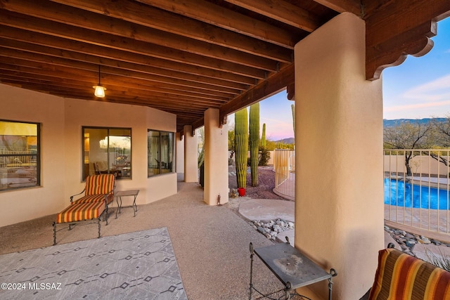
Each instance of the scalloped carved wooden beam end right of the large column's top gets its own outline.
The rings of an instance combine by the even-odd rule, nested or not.
[[[420,11],[420,13],[418,13]],[[366,18],[366,79],[380,78],[385,67],[399,65],[406,55],[423,56],[437,34],[435,22],[450,15],[450,1],[383,2]]]

